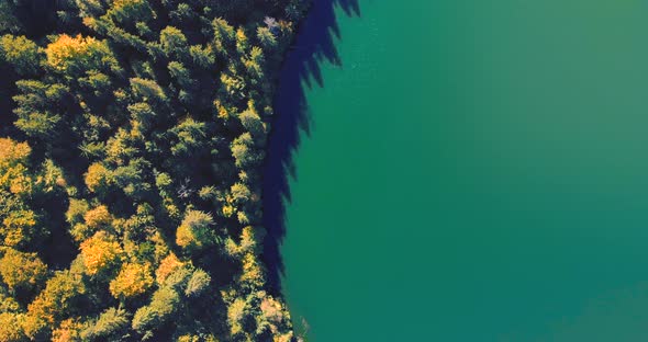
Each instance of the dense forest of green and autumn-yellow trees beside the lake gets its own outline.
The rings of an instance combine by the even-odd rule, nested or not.
[[[293,341],[260,164],[304,0],[0,0],[0,341]]]

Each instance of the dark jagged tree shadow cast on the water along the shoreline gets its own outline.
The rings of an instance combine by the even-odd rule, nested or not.
[[[264,226],[268,231],[262,259],[269,285],[276,293],[281,290],[284,273],[280,247],[286,236],[286,205],[291,202],[289,181],[297,179],[293,155],[299,149],[300,135],[310,136],[313,126],[305,93],[312,87],[324,87],[322,64],[343,66],[335,47],[336,41],[342,39],[336,8],[348,16],[360,16],[358,0],[314,0],[286,56],[275,96],[276,117],[261,171]]]

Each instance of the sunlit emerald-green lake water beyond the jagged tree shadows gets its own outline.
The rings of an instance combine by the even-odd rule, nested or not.
[[[293,159],[309,341],[646,341],[648,2],[359,7]]]

